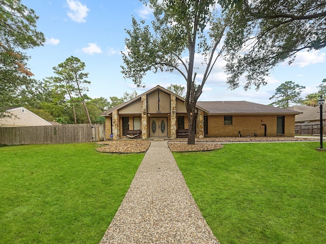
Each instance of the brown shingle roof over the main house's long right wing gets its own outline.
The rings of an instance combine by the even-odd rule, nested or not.
[[[276,108],[273,106],[251,103],[246,101],[213,101],[197,102],[197,105],[208,110],[209,114],[234,114],[234,113],[277,113],[299,114],[298,111]]]

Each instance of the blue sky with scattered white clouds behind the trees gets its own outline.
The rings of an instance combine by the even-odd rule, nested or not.
[[[21,0],[39,16],[38,30],[47,41],[44,46],[26,51],[31,56],[29,66],[34,78],[42,80],[53,76],[52,67],[76,56],[86,64],[85,72],[91,81],[91,98],[122,97],[124,92],[136,90],[138,94],[156,85],[167,87],[172,84],[185,86],[178,73],[149,73],[144,78],[145,88],[137,88],[121,73],[122,55],[125,50],[125,29],[131,28],[131,17],[150,19],[151,12],[138,0]],[[268,84],[258,91],[253,87],[247,92],[240,86],[228,89],[225,63],[216,65],[207,80],[200,101],[248,101],[269,104],[276,87],[285,81],[306,86],[302,96],[315,93],[316,86],[325,73],[326,50],[302,51],[289,66],[280,64],[267,78]]]

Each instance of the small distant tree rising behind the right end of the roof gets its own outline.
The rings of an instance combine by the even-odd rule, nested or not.
[[[302,89],[305,86],[295,84],[293,81],[285,81],[276,88],[275,94],[269,99],[278,99],[277,101],[269,104],[280,108],[288,108],[290,104],[301,104]]]

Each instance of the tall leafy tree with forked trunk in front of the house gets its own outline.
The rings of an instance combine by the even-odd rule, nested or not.
[[[188,144],[195,143],[195,107],[202,88],[220,56],[218,48],[225,32],[220,9],[213,0],[143,0],[153,9],[151,26],[132,18],[127,30],[127,52],[123,54],[122,73],[138,86],[144,86],[143,76],[177,71],[186,82],[185,107],[188,115]],[[216,52],[215,52],[216,51]],[[204,72],[197,77],[195,59]],[[198,86],[195,88],[196,79]]]

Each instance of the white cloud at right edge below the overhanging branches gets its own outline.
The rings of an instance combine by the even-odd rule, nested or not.
[[[311,50],[311,51],[301,51],[296,54],[294,62],[291,66],[298,66],[303,68],[308,65],[314,65],[318,63],[324,63],[326,61],[326,53],[321,52],[320,50]],[[287,62],[282,64],[283,66],[288,65]]]

